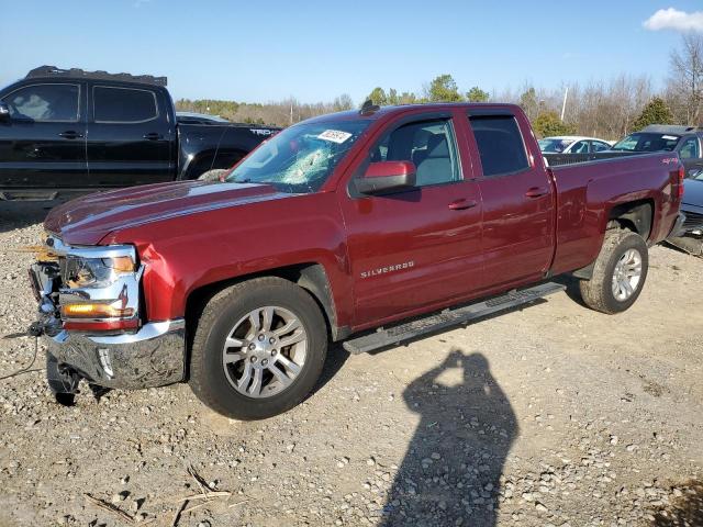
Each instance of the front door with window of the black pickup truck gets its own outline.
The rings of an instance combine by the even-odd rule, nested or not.
[[[10,119],[0,122],[0,184],[86,187],[85,83],[25,85],[2,102]]]

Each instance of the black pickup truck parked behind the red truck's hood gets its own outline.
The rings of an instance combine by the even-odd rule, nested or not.
[[[196,179],[278,131],[179,123],[165,77],[42,66],[0,90],[0,199]]]

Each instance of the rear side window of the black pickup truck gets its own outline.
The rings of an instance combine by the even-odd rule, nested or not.
[[[156,94],[136,88],[108,88],[92,90],[96,123],[143,123],[158,116]]]

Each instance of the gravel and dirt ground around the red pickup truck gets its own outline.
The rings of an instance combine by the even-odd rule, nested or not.
[[[34,350],[12,336],[35,310],[16,249],[44,213],[0,203],[0,375]],[[372,356],[335,347],[305,403],[258,423],[182,384],[59,406],[40,347],[0,381],[0,526],[170,526],[201,492],[189,467],[231,495],[179,526],[703,525],[703,259],[650,260],[618,316],[560,293]]]

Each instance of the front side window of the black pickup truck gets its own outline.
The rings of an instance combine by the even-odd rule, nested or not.
[[[37,122],[77,122],[78,85],[34,85],[20,88],[3,102],[10,116],[16,120]]]

